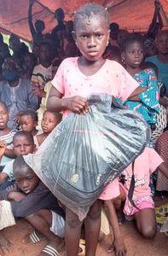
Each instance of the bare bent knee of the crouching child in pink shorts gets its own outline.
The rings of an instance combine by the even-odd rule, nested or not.
[[[154,209],[142,209],[135,213],[136,226],[142,236],[153,238],[157,232]]]

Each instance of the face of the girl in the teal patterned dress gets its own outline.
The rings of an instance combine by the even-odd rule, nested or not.
[[[127,67],[136,68],[139,67],[143,59],[143,47],[139,42],[130,43],[122,57],[125,58],[125,64]]]

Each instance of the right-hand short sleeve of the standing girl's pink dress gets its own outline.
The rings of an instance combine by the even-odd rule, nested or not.
[[[139,84],[136,82],[135,79],[133,79],[130,74],[125,70],[124,67],[119,65],[119,74],[118,74],[118,84],[116,86],[119,86],[119,99],[123,102],[125,102],[130,94],[136,90],[136,88],[139,86]]]

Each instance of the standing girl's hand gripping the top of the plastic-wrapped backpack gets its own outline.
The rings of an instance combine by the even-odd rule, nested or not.
[[[65,98],[63,101],[65,102],[65,107],[72,110],[74,113],[84,114],[88,112],[89,104],[86,99],[81,96]]]

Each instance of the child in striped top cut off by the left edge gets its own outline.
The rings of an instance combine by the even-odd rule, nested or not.
[[[16,131],[8,127],[9,110],[4,102],[0,102],[0,142],[3,141],[4,152],[1,155],[0,172],[11,159],[15,157],[13,152],[13,136]]]

